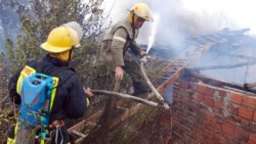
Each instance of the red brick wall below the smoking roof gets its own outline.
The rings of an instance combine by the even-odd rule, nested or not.
[[[256,97],[179,79],[173,136],[185,143],[256,143]]]

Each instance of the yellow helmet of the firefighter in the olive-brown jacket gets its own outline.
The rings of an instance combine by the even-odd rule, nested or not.
[[[153,22],[153,17],[150,8],[145,3],[137,3],[129,10],[128,15],[129,22],[132,22],[132,15],[135,14],[137,17],[143,18],[148,22]]]

